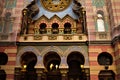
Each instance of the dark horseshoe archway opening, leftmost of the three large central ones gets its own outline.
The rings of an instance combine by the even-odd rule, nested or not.
[[[37,80],[35,65],[37,56],[33,52],[25,52],[21,56],[21,80]]]

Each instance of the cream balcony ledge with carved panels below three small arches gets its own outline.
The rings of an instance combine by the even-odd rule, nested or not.
[[[20,42],[79,42],[86,41],[85,34],[26,34],[20,36]]]

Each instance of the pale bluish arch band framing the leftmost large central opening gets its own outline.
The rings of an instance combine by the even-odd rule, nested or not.
[[[20,49],[17,53],[17,61],[16,61],[16,65],[17,66],[21,66],[20,64],[20,58],[21,56],[25,53],[25,52],[33,52],[37,57],[41,56],[40,53],[39,53],[39,50],[37,50],[35,47],[33,46],[26,46],[26,47],[23,47],[22,49]],[[38,58],[37,58],[38,59]],[[39,60],[37,60],[39,61]],[[38,62],[37,62],[38,63]]]

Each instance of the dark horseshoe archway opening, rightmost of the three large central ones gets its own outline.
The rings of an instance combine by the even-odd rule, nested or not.
[[[83,65],[85,63],[84,56],[77,51],[71,52],[67,57],[67,63],[69,66],[68,78],[73,80],[85,80],[86,75],[83,71]]]

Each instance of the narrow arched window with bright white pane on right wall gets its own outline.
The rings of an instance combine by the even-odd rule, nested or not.
[[[98,32],[105,31],[104,14],[102,11],[97,12],[97,31]]]

